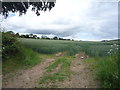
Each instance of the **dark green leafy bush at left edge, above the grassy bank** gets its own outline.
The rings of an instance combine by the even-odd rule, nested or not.
[[[23,47],[20,42],[17,40],[15,34],[12,31],[2,32],[2,57],[3,61],[16,55],[22,56]]]

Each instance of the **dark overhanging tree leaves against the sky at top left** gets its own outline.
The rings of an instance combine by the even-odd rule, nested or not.
[[[40,11],[46,11],[47,9],[50,11],[55,6],[55,1],[53,2],[46,2],[46,0],[42,0],[40,2],[2,2],[2,10],[0,14],[8,17],[9,12],[19,12],[19,16],[25,14],[27,9],[32,6],[32,11],[36,13],[37,16],[40,15]]]

